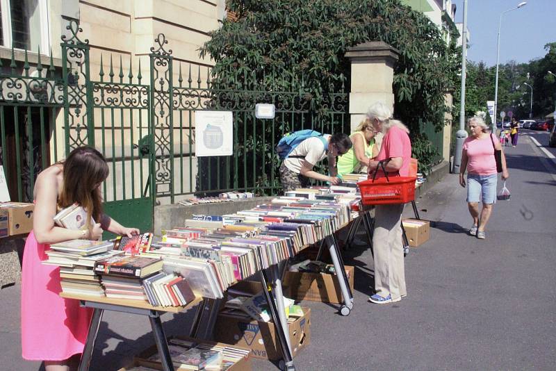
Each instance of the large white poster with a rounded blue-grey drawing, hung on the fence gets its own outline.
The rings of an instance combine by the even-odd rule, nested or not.
[[[231,111],[196,111],[195,156],[231,156],[234,147],[233,123]]]

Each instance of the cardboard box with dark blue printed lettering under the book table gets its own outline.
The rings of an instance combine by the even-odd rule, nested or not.
[[[233,286],[256,294],[261,291],[261,283],[241,281]],[[287,295],[286,295],[287,296]],[[303,317],[288,322],[292,356],[309,345],[311,341],[311,309],[303,307]],[[274,322],[261,322],[250,317],[239,318],[235,315],[219,313],[214,328],[214,338],[228,343],[251,349],[254,358],[276,361],[282,358],[278,345]]]

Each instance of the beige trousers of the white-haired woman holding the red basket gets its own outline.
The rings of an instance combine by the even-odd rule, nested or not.
[[[392,295],[392,299],[407,294],[400,225],[403,210],[403,204],[375,206],[375,292],[382,297]]]

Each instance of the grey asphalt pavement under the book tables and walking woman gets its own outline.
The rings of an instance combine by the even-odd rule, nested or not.
[[[466,191],[457,175],[445,176],[417,200],[433,223],[430,240],[405,259],[408,296],[369,303],[372,256],[364,242],[348,250],[354,309],[342,317],[336,306],[303,303],[311,308],[311,344],[296,356],[297,370],[553,370],[556,171],[546,170],[529,138],[505,151],[512,199],[494,207],[486,240],[466,233]],[[411,208],[404,214],[411,217]],[[0,368],[38,370],[20,356],[19,288],[0,291]],[[187,333],[192,315],[165,315],[167,334]],[[106,312],[90,370],[117,370],[152,343],[146,318]],[[268,361],[252,365],[277,370]]]

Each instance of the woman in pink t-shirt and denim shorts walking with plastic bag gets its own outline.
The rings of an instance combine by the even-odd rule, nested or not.
[[[467,204],[469,213],[473,217],[473,226],[469,229],[471,236],[484,239],[484,229],[489,222],[492,206],[496,201],[496,158],[494,150],[502,151],[502,179],[509,177],[506,167],[506,157],[502,145],[496,135],[489,134],[481,117],[471,117],[467,122],[471,136],[464,142],[461,150],[461,167],[459,184],[465,188],[464,173],[467,170]],[[482,210],[479,215],[479,201],[482,201]]]

